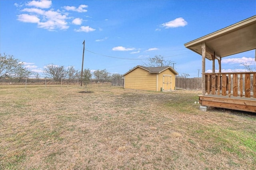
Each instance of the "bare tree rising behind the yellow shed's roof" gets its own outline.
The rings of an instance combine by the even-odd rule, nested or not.
[[[164,57],[161,55],[149,58],[148,63],[144,63],[144,65],[148,67],[170,66],[170,64],[172,64],[172,61],[164,60]]]

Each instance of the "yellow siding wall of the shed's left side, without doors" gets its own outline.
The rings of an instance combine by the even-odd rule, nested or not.
[[[156,74],[138,67],[125,75],[124,88],[156,91]]]

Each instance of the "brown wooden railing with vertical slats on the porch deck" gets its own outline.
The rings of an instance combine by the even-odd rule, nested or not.
[[[205,73],[207,94],[256,98],[256,72]]]

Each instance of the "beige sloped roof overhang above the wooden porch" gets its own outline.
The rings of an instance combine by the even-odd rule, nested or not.
[[[256,16],[200,37],[184,44],[186,48],[202,55],[206,48],[206,58],[212,60],[256,49]]]

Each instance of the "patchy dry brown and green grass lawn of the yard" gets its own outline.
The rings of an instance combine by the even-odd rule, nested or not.
[[[256,169],[256,114],[200,91],[0,86],[0,169]]]

